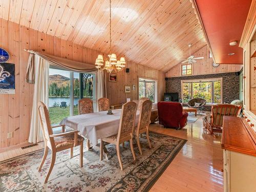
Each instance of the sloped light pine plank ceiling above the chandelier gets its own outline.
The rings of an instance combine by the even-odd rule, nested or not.
[[[188,0],[112,0],[112,52],[168,71],[206,45]],[[0,0],[0,17],[109,53],[108,0]]]

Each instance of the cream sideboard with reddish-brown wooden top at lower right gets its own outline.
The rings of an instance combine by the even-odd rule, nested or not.
[[[256,191],[256,134],[244,118],[224,116],[224,191]]]

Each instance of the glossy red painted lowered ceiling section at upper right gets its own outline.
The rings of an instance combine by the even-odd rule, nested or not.
[[[251,0],[196,0],[196,4],[216,63],[242,64],[243,49],[238,46]],[[234,40],[238,44],[230,46]]]

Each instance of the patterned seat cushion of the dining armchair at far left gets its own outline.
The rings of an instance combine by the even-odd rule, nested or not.
[[[77,144],[79,145],[81,142],[83,142],[83,140],[84,138],[78,135]],[[56,148],[62,147],[62,146],[74,145],[74,142],[75,142],[74,134],[54,137],[54,143],[56,145]]]

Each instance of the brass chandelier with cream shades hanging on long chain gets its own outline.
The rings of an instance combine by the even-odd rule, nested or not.
[[[95,67],[99,71],[106,70],[109,73],[111,73],[114,70],[115,72],[118,72],[125,67],[124,57],[120,57],[120,60],[117,60],[116,54],[111,53],[111,42],[112,42],[112,39],[111,39],[111,0],[110,0],[110,54],[108,55],[109,58],[105,59],[104,67],[103,67],[103,63],[104,63],[103,56],[98,55],[98,57],[96,58]]]

